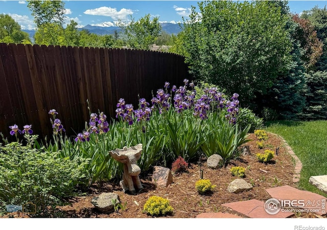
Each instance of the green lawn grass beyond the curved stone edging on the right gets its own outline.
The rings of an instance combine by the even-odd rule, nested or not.
[[[309,183],[310,176],[327,175],[327,121],[275,121],[265,129],[281,135],[301,160],[299,189],[327,197]]]

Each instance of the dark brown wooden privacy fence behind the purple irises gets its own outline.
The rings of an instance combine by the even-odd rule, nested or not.
[[[32,125],[35,134],[52,136],[50,109],[56,109],[66,133],[75,135],[91,112],[115,116],[116,103],[138,106],[139,98],[166,81],[190,79],[179,55],[127,49],[46,47],[0,43],[0,132],[9,126]],[[109,118],[108,118],[109,120]]]

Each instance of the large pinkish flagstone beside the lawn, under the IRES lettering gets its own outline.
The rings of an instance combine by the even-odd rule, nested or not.
[[[294,205],[287,203],[284,206],[292,206],[295,209],[306,209],[320,216],[326,213],[326,197],[319,194],[298,190],[288,185],[266,189],[266,191],[271,197],[279,201],[283,200],[283,202],[289,202],[289,200],[291,200],[294,202]]]

